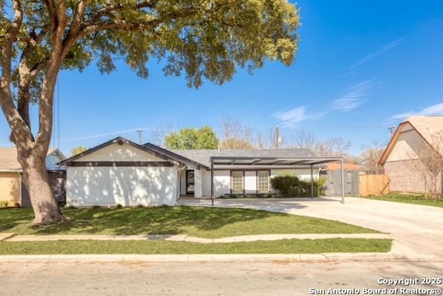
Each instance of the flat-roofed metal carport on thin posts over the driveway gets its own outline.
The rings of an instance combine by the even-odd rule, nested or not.
[[[311,198],[314,198],[314,167],[325,163],[341,163],[341,203],[345,203],[345,186],[343,176],[343,156],[341,157],[244,157],[244,156],[211,156],[210,157],[210,199],[214,205],[214,171],[224,169],[311,169]]]

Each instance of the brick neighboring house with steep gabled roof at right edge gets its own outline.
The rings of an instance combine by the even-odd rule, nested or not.
[[[439,136],[440,135],[440,136]],[[443,156],[443,116],[410,116],[399,124],[381,155],[380,165],[390,178],[390,190],[395,192],[425,193],[426,188],[417,164],[423,163],[422,151]],[[434,159],[435,160],[435,159]],[[435,160],[436,161],[436,160]],[[437,192],[442,192],[442,176]]]

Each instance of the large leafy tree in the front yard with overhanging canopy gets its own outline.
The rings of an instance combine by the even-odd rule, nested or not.
[[[0,0],[0,10],[0,106],[34,223],[66,220],[44,165],[60,71],[97,62],[110,73],[118,58],[147,77],[154,58],[165,60],[165,75],[184,74],[190,87],[223,84],[237,66],[253,71],[266,59],[291,64],[300,24],[287,0]],[[32,103],[39,104],[37,129],[30,126]]]

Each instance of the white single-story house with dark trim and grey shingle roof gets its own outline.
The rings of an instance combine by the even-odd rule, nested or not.
[[[176,205],[179,198],[266,194],[270,178],[316,178],[323,163],[307,149],[168,150],[115,138],[63,160],[66,204]]]

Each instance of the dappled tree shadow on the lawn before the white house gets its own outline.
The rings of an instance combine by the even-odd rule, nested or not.
[[[186,234],[278,215],[261,210],[211,207],[147,207],[64,210],[71,221],[30,226],[37,234]],[[282,214],[285,216],[284,214]]]

